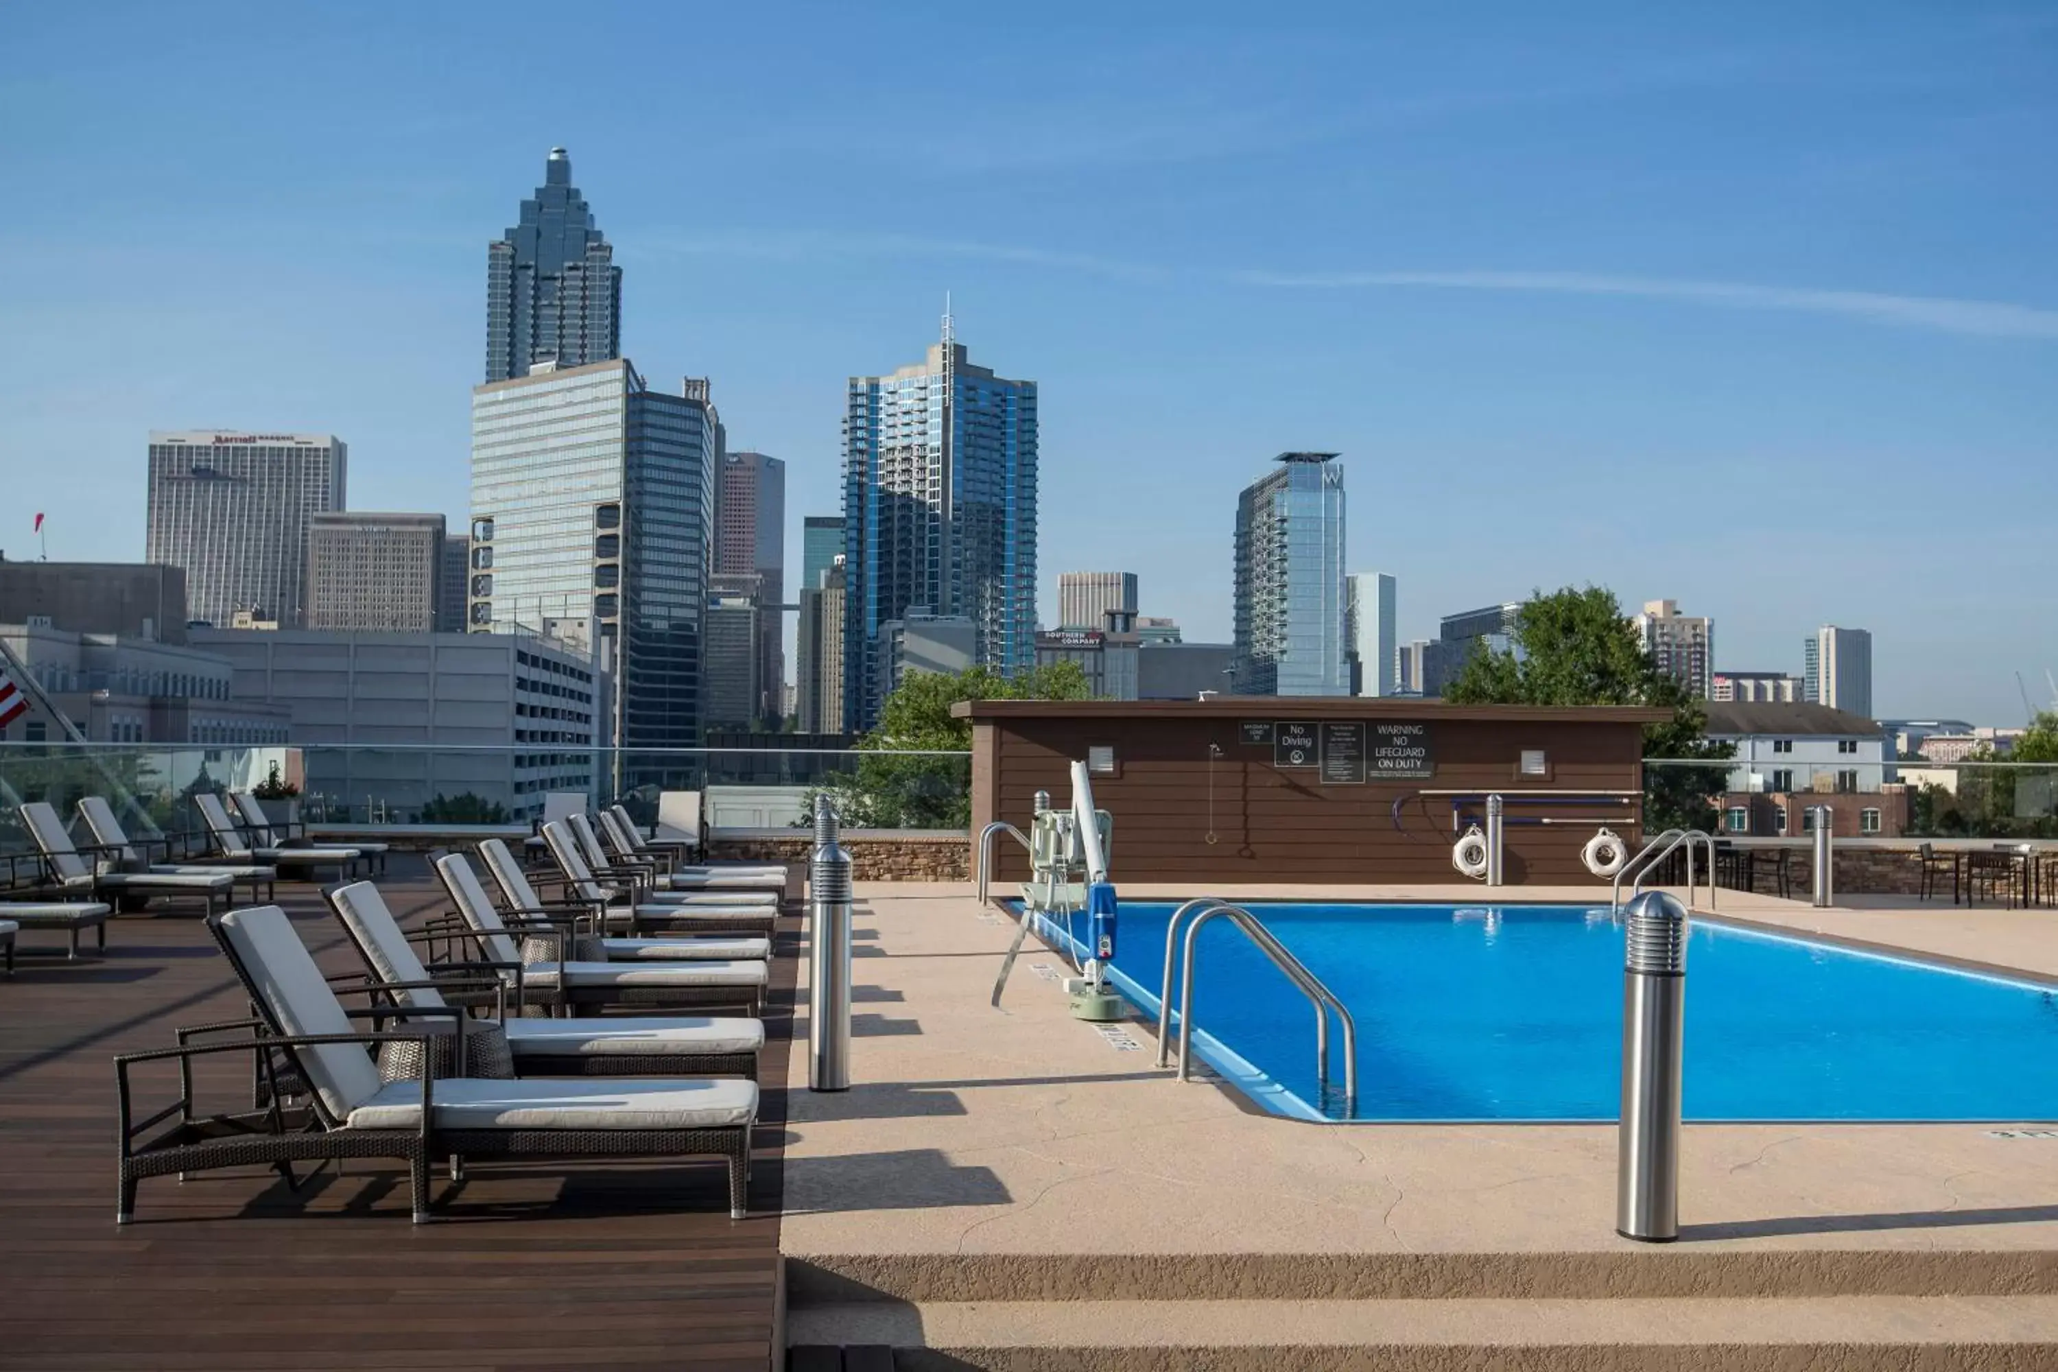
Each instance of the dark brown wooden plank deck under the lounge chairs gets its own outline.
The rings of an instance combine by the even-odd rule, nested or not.
[[[440,907],[418,858],[383,880],[403,922]],[[329,971],[356,969],[315,887],[282,903]],[[66,965],[23,934],[0,979],[0,1368],[704,1368],[774,1366],[784,1041],[796,919],[780,924],[751,1218],[718,1160],[473,1166],[438,1179],[438,1222],[407,1222],[385,1162],[292,1193],[274,1172],[146,1181],[115,1228],[119,1051],[243,1018],[200,919],[121,917],[109,956]],[[91,944],[91,940],[88,940]],[[247,1105],[241,1072],[202,1103]],[[175,1098],[138,1094],[138,1115]]]

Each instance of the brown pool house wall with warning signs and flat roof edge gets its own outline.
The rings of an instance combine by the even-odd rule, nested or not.
[[[1070,796],[1070,763],[1113,749],[1095,800],[1115,817],[1113,872],[1136,882],[1451,882],[1451,796],[1509,796],[1511,887],[1601,887],[1581,847],[1605,823],[1640,837],[1642,724],[1648,710],[1533,710],[1379,699],[971,701],[973,833],[992,819],[1027,831],[1033,796]],[[1424,724],[1430,775],[1323,782],[1325,769],[1280,767],[1272,745],[1245,743],[1262,722]],[[1371,736],[1371,728],[1367,728]],[[1210,763],[1210,745],[1220,755]],[[1548,775],[1519,775],[1543,751]],[[1212,780],[1210,780],[1212,771]],[[1212,788],[1212,831],[1208,843]],[[1519,800],[1515,792],[1560,792]],[[1618,794],[1622,802],[1576,796]],[[1395,827],[1395,802],[1399,825]],[[1529,823],[1541,817],[1578,823]],[[998,843],[996,878],[1029,876],[1027,854]]]

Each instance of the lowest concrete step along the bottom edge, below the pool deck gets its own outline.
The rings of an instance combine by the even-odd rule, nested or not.
[[[856,1300],[796,1306],[786,1329],[788,1343],[796,1345],[794,1368],[844,1372],[887,1366],[901,1372],[2029,1372],[2058,1366],[2058,1296]],[[846,1351],[838,1356],[838,1349]]]

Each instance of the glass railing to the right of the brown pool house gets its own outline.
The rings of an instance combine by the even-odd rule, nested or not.
[[[2058,839],[2058,763],[1922,759],[1644,759],[1644,827],[1801,839],[1817,806],[1836,837]]]

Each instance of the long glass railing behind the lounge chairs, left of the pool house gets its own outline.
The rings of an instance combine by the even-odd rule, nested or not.
[[[712,829],[805,825],[823,790],[846,827],[971,823],[971,755],[961,751],[12,743],[0,745],[0,852],[27,847],[16,806],[29,800],[70,821],[82,796],[103,796],[132,835],[175,835],[200,831],[193,794],[253,788],[280,817],[315,827],[527,829],[552,792],[622,800],[650,823],[667,790],[702,792]]]

